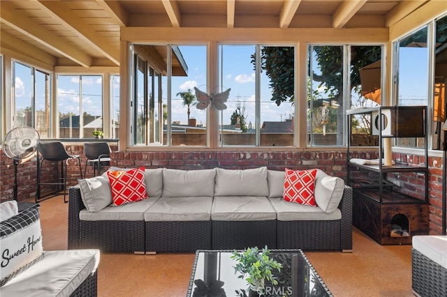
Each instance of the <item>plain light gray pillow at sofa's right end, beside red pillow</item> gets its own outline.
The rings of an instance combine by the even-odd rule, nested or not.
[[[325,213],[335,211],[342,201],[344,180],[337,176],[329,176],[317,169],[315,177],[315,201]]]

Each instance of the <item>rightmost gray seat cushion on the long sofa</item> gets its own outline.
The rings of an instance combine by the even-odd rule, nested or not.
[[[277,212],[277,220],[279,221],[340,220],[342,218],[342,212],[339,208],[332,213],[325,213],[318,206],[288,202],[282,198],[270,198],[270,202]]]

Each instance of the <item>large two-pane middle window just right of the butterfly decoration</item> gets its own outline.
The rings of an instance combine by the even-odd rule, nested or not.
[[[295,47],[220,45],[221,146],[293,146]]]

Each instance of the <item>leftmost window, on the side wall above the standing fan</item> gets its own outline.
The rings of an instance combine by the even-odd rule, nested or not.
[[[50,75],[14,61],[13,77],[13,127],[33,127],[41,138],[50,137]]]

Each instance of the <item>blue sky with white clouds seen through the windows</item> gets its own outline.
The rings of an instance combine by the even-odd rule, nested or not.
[[[172,120],[187,123],[186,107],[182,105],[182,99],[176,96],[177,93],[193,90],[196,86],[202,91],[207,91],[206,82],[206,47],[202,46],[180,46],[179,47],[186,64],[188,66],[187,77],[173,77],[172,80]],[[221,85],[210,86],[214,93],[221,90],[231,89],[228,98],[228,108],[222,112],[223,124],[230,123],[230,116],[233,114],[236,105],[245,107],[247,123],[254,125],[255,116],[255,78],[254,66],[251,64],[251,54],[254,54],[254,45],[226,45],[223,47],[222,79]],[[405,98],[411,105],[423,105],[421,98],[427,97],[427,59],[413,59],[414,54],[427,56],[426,48],[406,47],[401,51],[400,63],[400,98]],[[411,63],[406,62],[411,61]],[[79,114],[78,86],[79,82],[74,77],[60,76],[58,80],[60,112],[73,112]],[[119,80],[117,82],[119,84]],[[270,100],[271,90],[269,89],[269,79],[265,73],[261,76],[261,124],[263,121],[284,121],[293,115],[293,106],[290,103],[283,103],[280,107]],[[18,66],[15,78],[16,109],[30,106],[31,98],[31,74],[29,68]],[[166,102],[166,77],[163,77],[163,101]],[[41,88],[43,89],[43,88]],[[43,90],[37,90],[37,109],[44,107]],[[101,77],[85,76],[82,84],[83,112],[100,116],[101,108]],[[116,96],[119,96],[118,86],[115,88]],[[117,109],[117,106],[115,109]],[[197,123],[205,125],[206,112],[196,107],[191,107],[191,118],[195,118]]]

